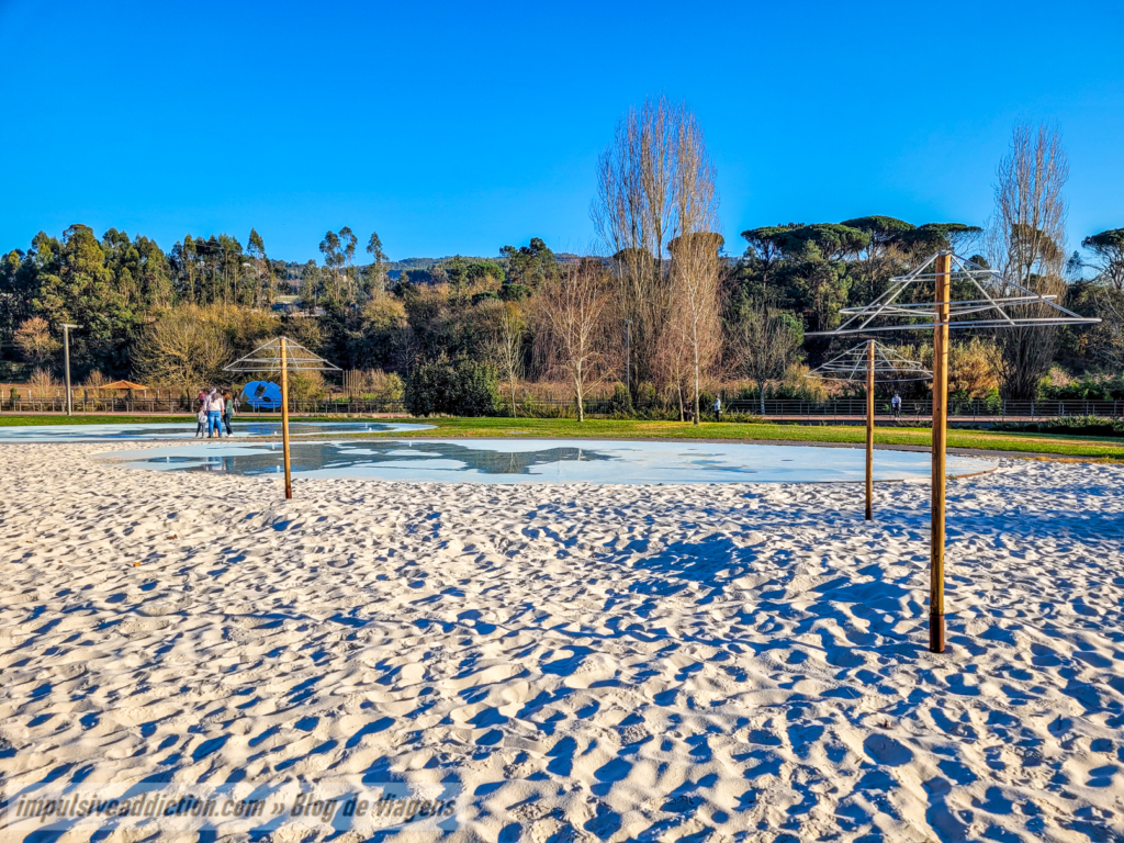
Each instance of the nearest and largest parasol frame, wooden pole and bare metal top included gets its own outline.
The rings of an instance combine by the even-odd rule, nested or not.
[[[977,290],[980,298],[952,300],[952,282]],[[932,284],[934,301],[910,302],[906,290]],[[890,280],[890,287],[870,305],[844,308],[850,318],[835,330],[805,336],[845,336],[873,330],[933,330],[933,508],[930,519],[928,649],[944,652],[944,504],[945,452],[949,437],[949,329],[1024,328],[1046,325],[1094,325],[1100,319],[1067,310],[1054,296],[1041,296],[1009,281],[995,270],[942,251],[917,269]],[[1018,308],[1036,306],[1046,316],[1018,316]],[[1014,309],[1008,312],[1008,309]],[[877,324],[876,324],[877,323]]]

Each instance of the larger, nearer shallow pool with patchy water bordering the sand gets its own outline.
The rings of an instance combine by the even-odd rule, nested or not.
[[[853,482],[864,478],[861,448],[613,439],[368,439],[297,442],[292,471],[306,478],[369,478],[483,483]],[[282,471],[280,444],[245,443],[117,451],[106,460],[134,469],[270,475]],[[876,480],[927,480],[930,454],[876,451]],[[950,474],[994,462],[950,456]]]

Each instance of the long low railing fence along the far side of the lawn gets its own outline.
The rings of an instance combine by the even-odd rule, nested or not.
[[[184,414],[193,413],[194,401],[190,398],[87,398],[74,396],[74,413],[121,413],[121,414]],[[562,416],[568,410],[572,413],[573,401],[562,399],[537,399],[525,405],[536,409],[544,408],[547,413]],[[584,411],[590,416],[604,416],[611,413],[610,399],[590,398],[583,402]],[[359,398],[332,398],[323,400],[291,400],[292,413],[303,415],[405,415],[406,406],[401,401],[375,401]],[[761,414],[759,400],[731,400],[723,402],[725,413]],[[51,398],[16,397],[0,399],[0,411],[16,413],[65,413],[64,396]],[[709,415],[709,407],[703,408],[703,415]],[[874,411],[880,416],[890,415],[889,401],[879,400]],[[243,402],[239,409],[242,416],[275,414],[278,410],[256,410]],[[520,410],[522,413],[522,410]],[[772,401],[764,404],[765,418],[783,418],[798,420],[824,420],[837,418],[862,417],[867,414],[867,402],[863,399],[842,399],[837,401]],[[536,413],[536,415],[542,415]],[[927,419],[933,415],[931,401],[903,401],[901,416],[905,419]],[[996,419],[1046,419],[1063,416],[1100,416],[1121,418],[1124,416],[1124,401],[951,401],[949,415],[957,419],[978,419],[981,422]]]

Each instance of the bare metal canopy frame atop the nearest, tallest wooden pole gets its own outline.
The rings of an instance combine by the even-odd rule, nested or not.
[[[935,284],[942,273],[936,263],[941,257],[948,257],[951,266],[950,285],[958,281],[967,282],[975,288],[981,298],[949,301],[943,321],[937,319],[937,307],[942,302],[903,302],[899,299],[909,289],[916,289],[918,283]],[[1045,325],[1094,325],[1100,319],[1079,316],[1059,305],[1057,296],[1042,296],[1025,287],[1009,281],[996,270],[984,269],[967,257],[952,252],[937,252],[912,272],[890,279],[890,287],[869,305],[845,307],[840,309],[844,316],[851,317],[834,330],[809,332],[805,336],[844,336],[846,334],[863,334],[872,330],[918,330],[946,325],[949,328],[1017,328]],[[1012,315],[1008,308],[1026,305],[1045,305],[1050,316],[1026,317]],[[966,318],[975,317],[975,318]],[[921,319],[899,324],[876,324],[876,320]]]

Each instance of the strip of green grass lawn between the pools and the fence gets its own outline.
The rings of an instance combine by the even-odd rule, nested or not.
[[[279,420],[280,415],[243,415],[235,418],[235,425],[247,422]],[[338,416],[294,417],[294,422],[341,422]],[[502,437],[502,436],[554,436],[573,438],[617,439],[714,439],[720,442],[841,442],[862,444],[865,430],[852,425],[796,425],[796,424],[741,424],[715,423],[689,425],[679,422],[629,422],[591,418],[586,422],[553,418],[434,418],[434,419],[388,419],[423,422],[435,425],[435,430],[415,433],[353,434],[354,436],[381,436],[402,438],[407,436],[451,437]],[[62,415],[13,416],[0,415],[0,427],[11,425],[65,425],[65,424],[191,424],[193,416],[73,416]],[[882,445],[931,444],[931,432],[926,427],[881,427],[874,432],[874,442]],[[1124,462],[1124,441],[1102,436],[1067,436],[1063,434],[1007,433],[989,430],[949,430],[950,447],[970,447],[987,451],[1054,454]]]

